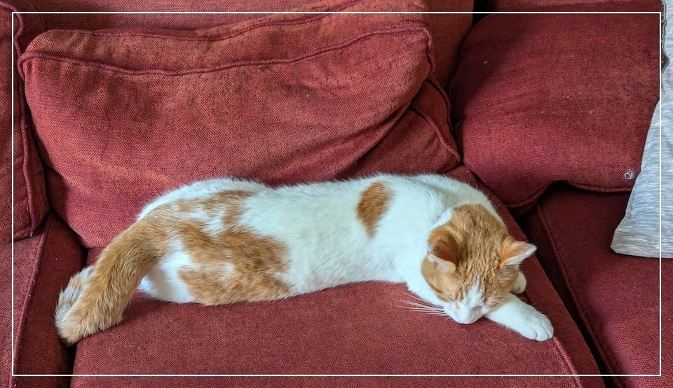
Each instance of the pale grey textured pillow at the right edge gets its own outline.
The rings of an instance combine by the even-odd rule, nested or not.
[[[671,2],[668,3],[664,54],[670,61],[673,58],[673,9]],[[661,120],[659,120],[660,113]],[[672,161],[673,69],[669,62],[661,74],[661,99],[654,109],[652,123],[645,140],[640,174],[633,186],[624,219],[617,226],[612,239],[611,247],[618,254],[647,257],[659,257],[661,254],[662,257],[673,258]],[[659,230],[660,221],[661,230]]]

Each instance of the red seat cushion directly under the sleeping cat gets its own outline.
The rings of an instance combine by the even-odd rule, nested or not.
[[[451,176],[477,184],[463,167]],[[524,238],[505,207],[495,203],[512,233]],[[98,254],[100,249],[92,249],[89,263]],[[529,279],[524,298],[548,314],[555,325],[552,340],[526,340],[491,321],[463,326],[396,307],[396,300],[411,298],[401,284],[351,284],[287,300],[217,307],[137,294],[121,324],[79,342],[74,373],[597,373],[537,259],[527,259],[522,268]],[[131,344],[133,351],[115,344]],[[600,381],[545,380],[559,386]],[[73,384],[98,381],[74,377]]]

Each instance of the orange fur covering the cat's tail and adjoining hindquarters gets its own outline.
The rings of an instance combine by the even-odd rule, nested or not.
[[[290,288],[275,274],[285,270],[285,247],[271,238],[236,226],[241,203],[250,193],[226,191],[205,199],[177,200],[153,209],[118,235],[90,270],[75,275],[70,293],[57,305],[56,326],[67,344],[117,324],[140,280],[170,254],[172,235],[179,235],[196,266],[179,272],[196,302],[206,305],[240,300],[290,296]],[[183,213],[200,209],[210,217],[223,217],[225,226],[215,236],[205,232],[203,221],[184,219]],[[172,231],[172,232],[170,232]],[[223,272],[223,263],[231,272]]]

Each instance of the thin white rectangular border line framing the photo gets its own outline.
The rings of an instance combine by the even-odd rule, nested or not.
[[[232,12],[215,12],[215,11],[111,11],[111,12],[98,12],[98,11],[91,11],[91,12],[85,12],[85,11],[66,11],[66,12],[12,12],[12,20],[11,20],[11,27],[12,27],[12,33],[11,33],[11,60],[12,60],[12,71],[11,71],[11,115],[12,115],[12,126],[11,126],[11,141],[12,145],[14,144],[14,69],[16,66],[15,62],[15,55],[14,55],[14,15],[15,14],[21,14],[21,15],[30,15],[30,14],[74,14],[74,15],[86,15],[86,14],[111,14],[111,15],[117,15],[117,14],[137,14],[137,15],[142,15],[142,14],[219,14],[219,13],[233,13],[233,14],[255,14],[255,15],[268,15],[268,14],[274,14],[274,13],[296,13],[296,14],[332,14],[332,13],[356,13],[356,14],[404,14],[404,13],[412,13],[412,14],[471,14],[471,15],[491,15],[491,14],[542,14],[542,15],[564,15],[564,14],[571,14],[571,15],[576,15],[576,14],[651,14],[651,15],[659,15],[659,20],[660,22],[658,23],[659,25],[659,63],[661,64],[661,52],[663,50],[662,47],[662,23],[664,20],[662,20],[662,12],[625,12],[625,11],[618,11],[618,12],[605,12],[605,11],[590,11],[590,12],[522,12],[522,11],[512,11],[512,12],[466,12],[466,11],[456,11],[456,12],[400,12],[400,11],[390,11],[390,12],[372,12],[372,11],[359,11],[359,12],[341,12],[341,11],[320,11],[320,12],[306,12],[306,11],[278,11],[278,12],[265,12],[265,11],[232,11]],[[669,62],[672,62],[673,58],[669,58]],[[671,65],[668,63],[667,65]],[[662,73],[662,67],[659,67],[659,100],[661,101],[661,73]],[[225,374],[225,375],[219,375],[219,374],[205,374],[205,375],[193,375],[193,374],[177,374],[177,375],[169,375],[169,374],[132,374],[132,375],[116,375],[116,374],[93,374],[93,375],[81,375],[81,374],[55,374],[55,375],[49,375],[49,374],[15,374],[15,349],[14,349],[14,163],[12,163],[11,167],[11,177],[12,177],[12,182],[11,182],[11,188],[12,188],[12,195],[11,195],[11,279],[12,279],[12,298],[11,298],[11,316],[12,316],[12,322],[11,322],[11,377],[662,377],[662,345],[661,345],[661,338],[662,338],[662,317],[661,317],[661,263],[662,263],[662,256],[661,256],[661,243],[662,243],[662,236],[661,236],[661,106],[663,102],[659,104],[659,373],[658,374],[637,374],[637,375],[599,375],[599,374],[571,374],[571,375],[559,375],[559,374],[548,374],[548,375],[535,375],[535,374],[513,374],[513,375],[504,375],[504,374],[488,374],[488,375],[470,375],[470,374],[461,374],[461,375],[442,375],[442,374],[430,374],[430,375],[392,375],[392,374],[385,374],[385,375],[367,375],[367,374],[358,374],[358,375],[321,375],[321,374],[315,374],[315,375],[282,375],[282,374],[260,374],[260,375],[250,375],[250,374],[244,374],[244,375],[231,375],[231,374]],[[11,151],[11,160],[14,160],[15,155],[14,155],[14,147],[12,146],[12,151]]]

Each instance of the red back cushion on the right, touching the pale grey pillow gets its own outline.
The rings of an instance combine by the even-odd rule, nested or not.
[[[510,208],[554,181],[630,190],[658,99],[659,16],[489,15],[451,83],[465,165]]]

